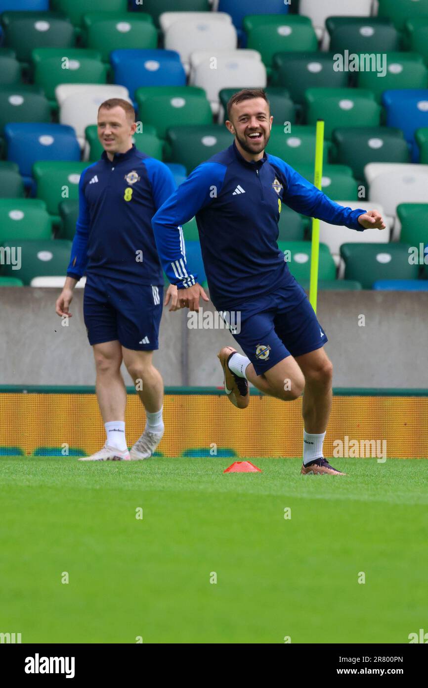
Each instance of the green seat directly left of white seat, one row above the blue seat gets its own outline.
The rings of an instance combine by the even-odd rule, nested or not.
[[[123,12],[122,14],[85,14],[85,45],[99,50],[104,62],[109,62],[112,50],[121,48],[157,48],[157,30],[150,14]]]

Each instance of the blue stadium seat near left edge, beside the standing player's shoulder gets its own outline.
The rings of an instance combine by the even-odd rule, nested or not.
[[[38,160],[80,160],[73,127],[18,122],[4,129],[8,160],[19,165],[24,184],[33,185],[32,166]]]

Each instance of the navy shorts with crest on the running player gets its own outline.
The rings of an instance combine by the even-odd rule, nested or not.
[[[296,305],[301,296],[302,300]],[[240,332],[231,331],[258,375],[286,356],[308,354],[328,341],[311,303],[297,283],[295,287],[278,288],[246,303],[237,309],[238,312]],[[239,322],[237,314],[231,316],[232,324]]]

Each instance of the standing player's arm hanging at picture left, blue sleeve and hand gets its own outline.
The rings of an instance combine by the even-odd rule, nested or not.
[[[76,222],[76,234],[74,235],[73,244],[71,246],[71,257],[69,266],[67,268],[67,278],[65,280],[63,291],[60,293],[58,299],[56,299],[55,306],[56,314],[59,316],[67,315],[70,318],[71,313],[69,313],[69,305],[73,299],[73,290],[80,277],[85,275],[88,262],[87,246],[90,218],[89,209],[85,199],[85,193],[83,191],[85,172],[86,170],[84,170],[80,175],[79,215]]]

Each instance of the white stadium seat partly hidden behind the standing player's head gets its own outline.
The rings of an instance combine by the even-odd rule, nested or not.
[[[86,127],[96,125],[98,108],[108,98],[117,98],[117,96],[113,95],[111,91],[109,92],[106,87],[104,87],[104,91],[88,89],[69,95],[60,105],[60,124],[74,127],[80,148],[85,146]],[[124,100],[131,103],[128,97]]]

